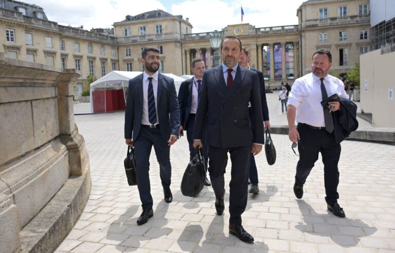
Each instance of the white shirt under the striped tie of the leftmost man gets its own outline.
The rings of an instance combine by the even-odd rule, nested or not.
[[[151,125],[148,117],[148,84],[150,81],[148,80],[150,76],[143,71],[142,74],[142,120],[141,124],[143,125]],[[159,124],[158,119],[158,103],[157,103],[157,94],[158,94],[158,71],[152,75],[152,88],[154,90],[154,97],[155,97],[155,110],[156,110],[156,123],[155,125]]]

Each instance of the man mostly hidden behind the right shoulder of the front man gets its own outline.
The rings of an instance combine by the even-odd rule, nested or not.
[[[263,114],[263,121],[265,123],[265,130],[270,129],[270,121],[269,121],[269,110],[267,109],[267,102],[266,102],[266,92],[265,92],[265,80],[263,79],[263,73],[258,69],[250,68],[248,65],[249,62],[249,51],[247,48],[244,48],[240,52],[239,58],[239,65],[243,68],[251,69],[258,74],[259,77],[259,88],[260,88],[260,95],[261,95],[261,104],[262,104],[262,114]],[[248,115],[250,124],[253,126],[253,110],[251,110],[251,106],[248,105]],[[258,186],[258,170],[257,165],[255,163],[254,155],[251,154],[251,160],[249,164],[249,181],[251,182],[251,188],[249,189],[249,193],[258,194],[259,193],[259,186]]]

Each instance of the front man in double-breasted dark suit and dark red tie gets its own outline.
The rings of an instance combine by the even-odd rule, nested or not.
[[[203,147],[204,121],[207,119],[207,144],[211,185],[216,195],[218,215],[224,212],[224,173],[230,153],[229,233],[244,242],[254,238],[241,225],[247,205],[250,153],[258,154],[264,142],[262,106],[258,75],[238,64],[241,41],[234,36],[221,43],[222,65],[204,73],[193,131],[193,147]],[[254,128],[248,118],[251,102]]]

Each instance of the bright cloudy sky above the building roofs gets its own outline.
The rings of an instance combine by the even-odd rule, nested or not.
[[[307,0],[26,0],[42,8],[50,21],[60,25],[80,26],[90,30],[111,28],[126,15],[161,9],[173,15],[183,15],[192,24],[192,32],[221,30],[226,25],[244,23],[259,27],[296,25],[296,10]]]

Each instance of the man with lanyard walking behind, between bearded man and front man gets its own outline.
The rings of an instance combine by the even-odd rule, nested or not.
[[[179,86],[178,104],[179,104],[179,119],[181,125],[179,126],[179,136],[184,130],[187,131],[187,139],[189,143],[189,160],[196,155],[196,150],[193,148],[193,125],[195,123],[195,116],[197,110],[197,103],[199,102],[199,93],[202,89],[202,78],[204,70],[206,69],[204,61],[200,58],[195,58],[191,62],[191,70],[193,77],[185,80]],[[205,141],[203,141],[205,143]],[[205,159],[206,173],[208,165],[208,146],[203,145],[202,154]],[[211,186],[207,176],[204,181],[205,186]]]

